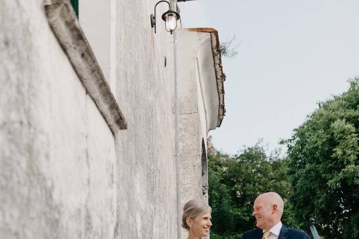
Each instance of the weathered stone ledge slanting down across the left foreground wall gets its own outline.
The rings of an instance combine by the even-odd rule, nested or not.
[[[127,129],[120,107],[97,64],[69,0],[46,0],[44,7],[55,37],[112,133]]]

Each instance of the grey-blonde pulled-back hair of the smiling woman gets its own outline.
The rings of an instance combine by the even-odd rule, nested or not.
[[[183,207],[182,214],[182,227],[189,230],[190,226],[187,225],[186,218],[191,217],[192,219],[198,215],[206,213],[212,213],[212,208],[200,200],[190,200]]]

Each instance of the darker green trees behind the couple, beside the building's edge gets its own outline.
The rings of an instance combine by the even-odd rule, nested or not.
[[[239,155],[208,155],[209,204],[212,207],[211,239],[240,239],[255,228],[252,216],[256,197],[276,191],[284,199],[289,194],[287,166],[278,153],[267,156],[260,144],[247,147]],[[282,221],[292,224],[286,204]]]

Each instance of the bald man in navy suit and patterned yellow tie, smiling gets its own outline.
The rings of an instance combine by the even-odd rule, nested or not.
[[[309,239],[307,233],[288,229],[281,222],[284,202],[276,192],[266,192],[254,201],[252,215],[256,217],[256,229],[243,233],[242,239]]]

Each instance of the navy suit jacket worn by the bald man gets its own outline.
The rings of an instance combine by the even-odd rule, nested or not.
[[[262,239],[263,230],[256,228],[243,233],[242,239]],[[282,226],[278,239],[309,239],[309,235],[305,232],[295,229],[288,229],[285,225]]]

